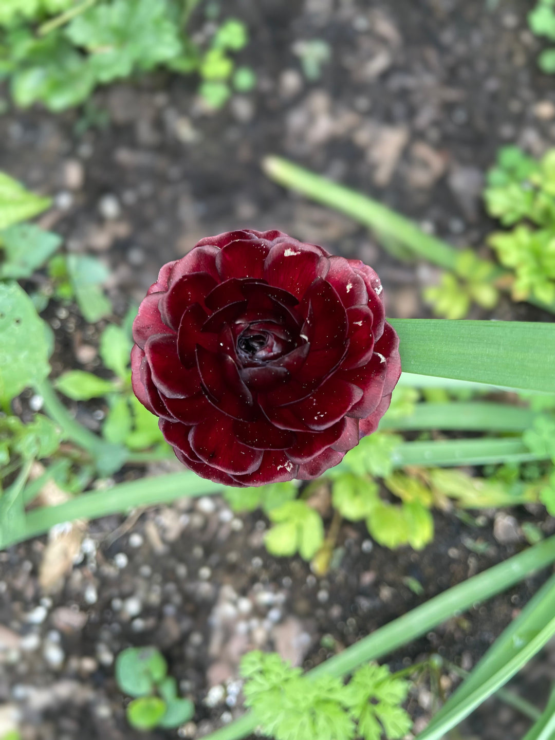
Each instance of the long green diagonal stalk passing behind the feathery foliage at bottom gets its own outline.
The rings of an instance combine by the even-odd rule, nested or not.
[[[488,571],[472,576],[448,591],[403,614],[388,625],[380,627],[368,637],[347,647],[339,655],[309,670],[306,679],[319,676],[346,676],[370,660],[377,660],[406,645],[451,619],[452,616],[474,604],[491,599],[497,593],[511,588],[534,571],[555,561],[555,537],[528,548]],[[251,712],[204,740],[239,740],[254,732],[256,720]]]

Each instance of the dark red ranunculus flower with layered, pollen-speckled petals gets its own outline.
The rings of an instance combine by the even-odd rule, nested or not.
[[[278,231],[202,239],[133,325],[132,383],[178,459],[228,485],[309,480],[377,427],[400,376],[382,286]]]

